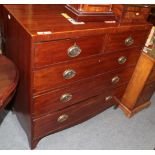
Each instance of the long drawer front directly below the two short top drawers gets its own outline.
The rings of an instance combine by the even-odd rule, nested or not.
[[[136,49],[133,51],[126,50],[36,70],[34,71],[34,93],[61,87],[119,67],[124,68],[135,65],[139,54],[140,51],[136,51]],[[122,57],[125,58],[124,62],[121,61]]]

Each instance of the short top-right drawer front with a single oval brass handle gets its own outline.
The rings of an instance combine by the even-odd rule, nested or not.
[[[105,52],[114,52],[120,49],[127,49],[136,46],[142,48],[146,42],[148,34],[149,30],[109,34],[109,38],[106,41]]]

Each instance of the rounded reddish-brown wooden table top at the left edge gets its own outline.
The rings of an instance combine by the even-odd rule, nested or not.
[[[0,55],[0,109],[11,99],[18,82],[16,66],[5,56]]]

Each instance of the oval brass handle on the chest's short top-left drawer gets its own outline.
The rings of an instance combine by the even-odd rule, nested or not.
[[[68,56],[71,58],[78,56],[80,53],[81,53],[81,49],[78,45],[71,46],[67,51]]]

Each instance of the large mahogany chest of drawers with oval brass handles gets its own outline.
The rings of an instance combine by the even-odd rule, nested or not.
[[[151,25],[68,21],[64,5],[4,5],[5,54],[20,81],[14,111],[31,148],[117,104]]]

